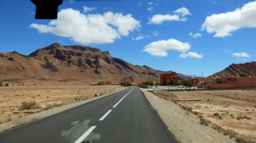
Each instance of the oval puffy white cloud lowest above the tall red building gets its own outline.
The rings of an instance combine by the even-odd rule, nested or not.
[[[143,51],[153,56],[167,56],[167,50],[178,50],[185,53],[190,49],[189,43],[182,43],[176,39],[168,39],[152,42],[144,47]]]

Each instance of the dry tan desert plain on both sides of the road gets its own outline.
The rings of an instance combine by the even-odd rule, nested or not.
[[[122,89],[124,88],[119,85],[41,86],[32,84],[0,87],[0,124],[42,112],[49,105],[67,105],[93,98],[96,93],[101,96]],[[177,104],[190,107],[212,124],[256,141],[256,89],[156,92],[166,97],[201,99],[201,101],[179,101]],[[24,101],[35,101],[40,108],[21,109]]]

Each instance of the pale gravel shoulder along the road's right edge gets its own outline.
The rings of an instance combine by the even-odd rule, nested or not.
[[[169,131],[181,142],[236,142],[210,126],[201,125],[199,117],[186,112],[173,101],[157,97],[144,89],[141,91],[157,110]]]

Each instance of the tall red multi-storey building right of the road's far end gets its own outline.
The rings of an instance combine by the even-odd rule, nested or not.
[[[178,73],[170,72],[170,73],[162,73],[160,74],[160,85],[168,85],[168,82],[174,81],[178,82]]]

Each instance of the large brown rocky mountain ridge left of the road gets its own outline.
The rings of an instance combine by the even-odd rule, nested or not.
[[[143,82],[160,75],[147,66],[137,66],[114,58],[109,51],[54,43],[29,55],[0,53],[0,81],[130,81]]]

